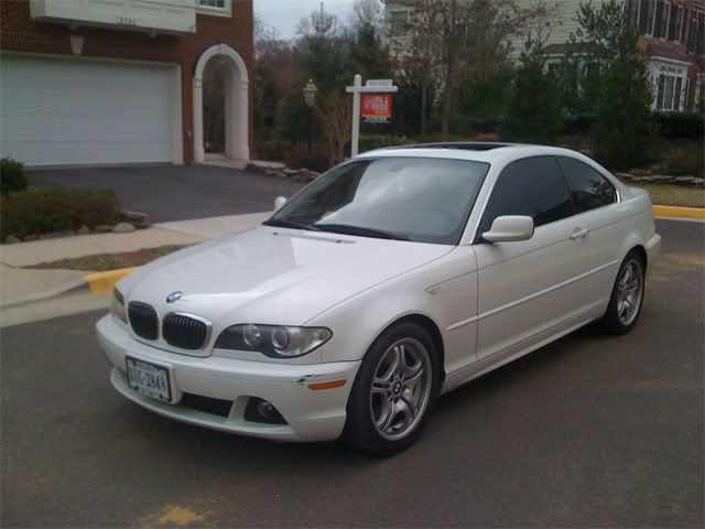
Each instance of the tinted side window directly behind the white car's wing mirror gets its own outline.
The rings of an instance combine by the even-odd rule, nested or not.
[[[536,227],[573,215],[567,184],[555,158],[527,158],[505,168],[480,220],[479,240],[502,215],[530,216]]]

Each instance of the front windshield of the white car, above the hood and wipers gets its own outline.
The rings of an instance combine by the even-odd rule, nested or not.
[[[457,245],[488,169],[466,160],[356,160],[332,169],[264,224]]]

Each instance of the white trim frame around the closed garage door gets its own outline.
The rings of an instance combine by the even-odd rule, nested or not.
[[[89,61],[94,63],[117,63],[117,64],[134,64],[142,66],[154,66],[158,68],[171,68],[173,71],[170,98],[171,98],[171,136],[172,136],[172,163],[181,165],[184,163],[184,141],[183,141],[183,99],[181,94],[181,64],[178,63],[163,63],[159,61],[140,61],[132,58],[113,58],[113,57],[100,57],[96,55],[66,55],[58,53],[35,53],[35,52],[14,52],[14,51],[0,51],[0,58],[3,55],[18,55],[25,57],[51,57],[62,61]],[[90,164],[93,165],[93,164]],[[63,166],[63,165],[62,165]]]

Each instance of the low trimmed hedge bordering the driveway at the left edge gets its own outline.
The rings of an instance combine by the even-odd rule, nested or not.
[[[2,198],[0,238],[75,230],[82,224],[88,227],[111,225],[119,219],[120,206],[111,190],[20,191]]]

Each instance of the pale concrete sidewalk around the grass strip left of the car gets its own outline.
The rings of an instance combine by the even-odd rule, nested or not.
[[[57,259],[96,253],[121,253],[164,245],[193,245],[241,231],[265,220],[270,212],[181,220],[154,225],[131,234],[94,234],[0,246],[0,306],[6,320],[19,305],[69,292],[87,284],[88,271],[34,270]],[[26,312],[29,307],[23,307]]]

